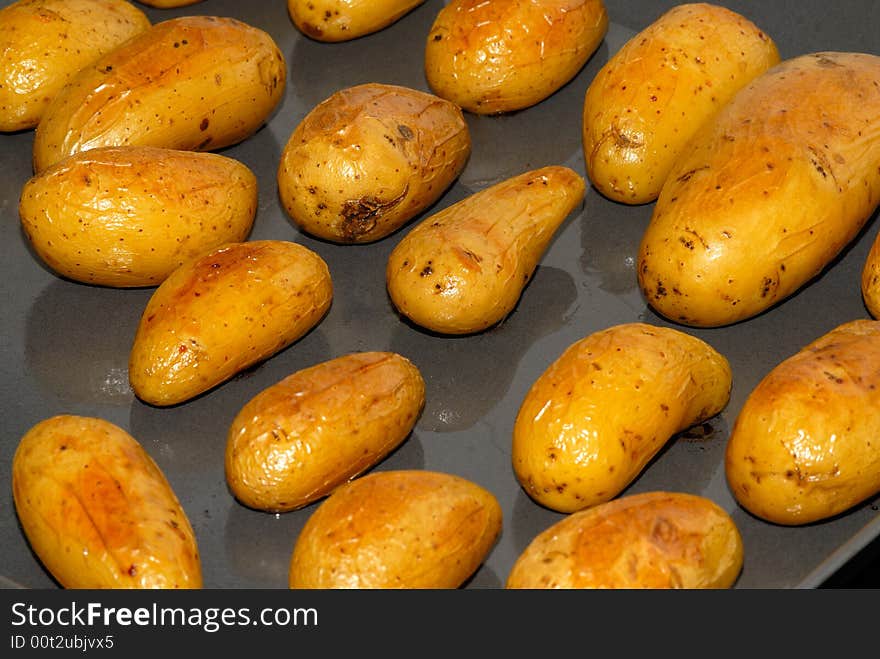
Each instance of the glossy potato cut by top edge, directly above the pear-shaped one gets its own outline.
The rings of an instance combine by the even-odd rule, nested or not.
[[[577,75],[607,31],[601,0],[453,0],[428,33],[425,75],[475,114],[521,110]]]

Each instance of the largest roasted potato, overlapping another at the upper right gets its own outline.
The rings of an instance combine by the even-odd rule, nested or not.
[[[676,161],[639,285],[670,320],[751,318],[817,276],[880,199],[880,57],[813,53],[756,78]]]

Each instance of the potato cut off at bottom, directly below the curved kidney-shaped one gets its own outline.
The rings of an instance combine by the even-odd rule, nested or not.
[[[507,588],[722,589],[743,542],[716,503],[683,492],[632,494],[573,513],[538,535]]]

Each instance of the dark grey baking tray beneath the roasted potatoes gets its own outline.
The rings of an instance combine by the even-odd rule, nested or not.
[[[582,207],[562,226],[519,305],[503,323],[475,336],[439,337],[403,322],[385,291],[385,261],[406,229],[370,245],[322,242],[298,231],[277,197],[281,150],[315,104],[338,89],[366,82],[429,91],[422,68],[424,40],[443,4],[426,2],[381,32],[339,44],[300,35],[283,0],[204,0],[177,10],[141,6],[153,22],[189,14],[231,16],[274,37],[287,60],[286,96],[257,134],[223,153],[247,164],[260,182],[251,238],[291,240],[313,249],[327,261],[335,288],[328,316],[307,336],[174,408],[143,404],[128,387],[128,351],[153,289],[87,286],[60,278],[41,264],[20,230],[17,212],[21,187],[32,175],[33,131],[0,135],[2,585],[58,587],[29,549],[9,482],[20,437],[50,415],[72,413],[125,428],[156,460],[192,521],[206,588],[286,588],[293,544],[318,504],[280,515],[238,504],[224,479],[226,431],[238,409],[259,391],[296,370],[360,350],[393,350],[409,357],[427,387],[425,410],[412,435],[375,469],[454,473],[486,487],[501,503],[503,533],[465,588],[503,587],[519,553],[562,518],[529,499],[515,480],[510,464],[513,421],[532,382],[574,341],[631,321],[676,327],[647,308],[636,283],[638,243],[653,205],[628,207],[588,189]],[[607,37],[568,85],[517,113],[467,115],[473,154],[457,183],[427,213],[544,165],[563,164],[584,174],[580,120],[587,86],[629,37],[675,4],[607,0]],[[841,0],[833,11],[824,0],[719,4],[765,30],[783,58],[818,50],[880,51],[880,18],[869,0]],[[729,430],[758,381],[834,326],[867,317],[858,278],[877,230],[874,217],[820,277],[759,317],[725,328],[678,327],[728,358],[734,374],[730,402],[697,431],[673,438],[625,494],[685,491],[726,509],[745,545],[736,588],[817,587],[880,534],[878,499],[805,527],[758,520],[736,504],[723,468]]]

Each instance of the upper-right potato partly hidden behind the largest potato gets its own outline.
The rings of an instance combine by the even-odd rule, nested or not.
[[[697,129],[778,63],[776,45],[745,17],[706,3],[670,9],[587,89],[583,145],[593,185],[614,201],[654,201]]]

